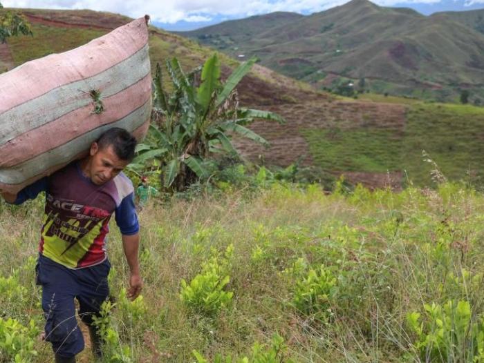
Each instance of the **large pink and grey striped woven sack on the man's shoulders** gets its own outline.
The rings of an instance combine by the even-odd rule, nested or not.
[[[0,190],[17,193],[83,157],[111,127],[145,135],[151,114],[147,19],[0,75]]]

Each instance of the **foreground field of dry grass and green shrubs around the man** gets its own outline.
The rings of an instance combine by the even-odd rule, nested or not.
[[[273,184],[149,206],[134,303],[111,228],[106,362],[483,362],[483,206],[456,184],[332,195]],[[2,362],[22,346],[5,342],[8,318],[32,320],[22,344],[37,355],[24,361],[51,362],[36,337],[41,200],[0,208]]]

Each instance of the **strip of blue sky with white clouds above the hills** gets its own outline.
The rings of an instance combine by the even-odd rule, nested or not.
[[[145,14],[166,30],[191,30],[230,19],[274,11],[311,14],[348,0],[0,0],[8,8],[91,9],[137,18]],[[484,0],[373,0],[380,6],[404,6],[431,14],[484,8]]]

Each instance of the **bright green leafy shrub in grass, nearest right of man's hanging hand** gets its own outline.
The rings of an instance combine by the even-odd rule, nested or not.
[[[230,282],[227,275],[234,246],[230,245],[221,258],[218,253],[202,265],[202,271],[187,284],[181,280],[180,300],[190,310],[207,316],[213,316],[221,308],[226,308],[232,302],[234,293],[225,291]]]

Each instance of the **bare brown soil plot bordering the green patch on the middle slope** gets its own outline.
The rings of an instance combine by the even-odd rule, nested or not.
[[[404,131],[405,106],[399,104],[378,104],[351,101],[328,101],[328,99],[300,98],[296,104],[280,103],[266,109],[282,115],[287,123],[279,125],[271,121],[255,121],[250,128],[270,142],[270,148],[254,144],[246,139],[237,139],[234,144],[241,153],[252,161],[288,166],[302,157],[303,164],[313,163],[306,139],[301,129],[351,130],[354,128],[384,128],[396,134]],[[381,177],[369,177],[378,173],[353,173],[351,181],[365,185],[382,186]],[[349,177],[348,177],[348,180]],[[393,179],[392,179],[393,180]]]

